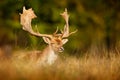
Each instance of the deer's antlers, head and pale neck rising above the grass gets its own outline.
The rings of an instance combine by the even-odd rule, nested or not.
[[[41,51],[41,55],[38,58],[38,62],[40,63],[47,63],[47,64],[53,64],[55,60],[57,59],[58,55],[57,53],[62,52],[64,50],[63,45],[68,41],[67,37],[71,34],[75,33],[76,31],[73,31],[69,33],[69,15],[67,13],[67,9],[63,13],[60,14],[63,19],[65,20],[66,24],[64,26],[64,30],[61,31],[60,34],[58,34],[58,28],[53,34],[41,34],[39,32],[35,32],[32,29],[31,21],[32,19],[36,18],[37,16],[34,14],[34,11],[32,8],[26,10],[25,7],[23,7],[23,13],[20,14],[20,23],[22,25],[22,29],[29,32],[33,36],[42,37],[44,42],[48,44],[48,46]]]

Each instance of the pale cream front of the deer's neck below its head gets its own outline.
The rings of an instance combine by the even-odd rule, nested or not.
[[[51,45],[48,45],[44,50],[43,50],[43,62],[47,64],[53,64],[55,60],[57,59],[57,55],[55,54],[55,51],[52,49]]]

